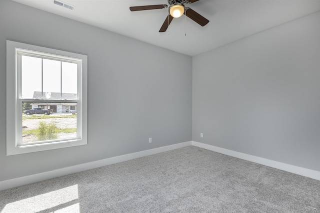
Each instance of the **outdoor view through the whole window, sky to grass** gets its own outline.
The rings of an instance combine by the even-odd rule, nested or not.
[[[77,138],[78,63],[34,54],[19,52],[22,144]]]

